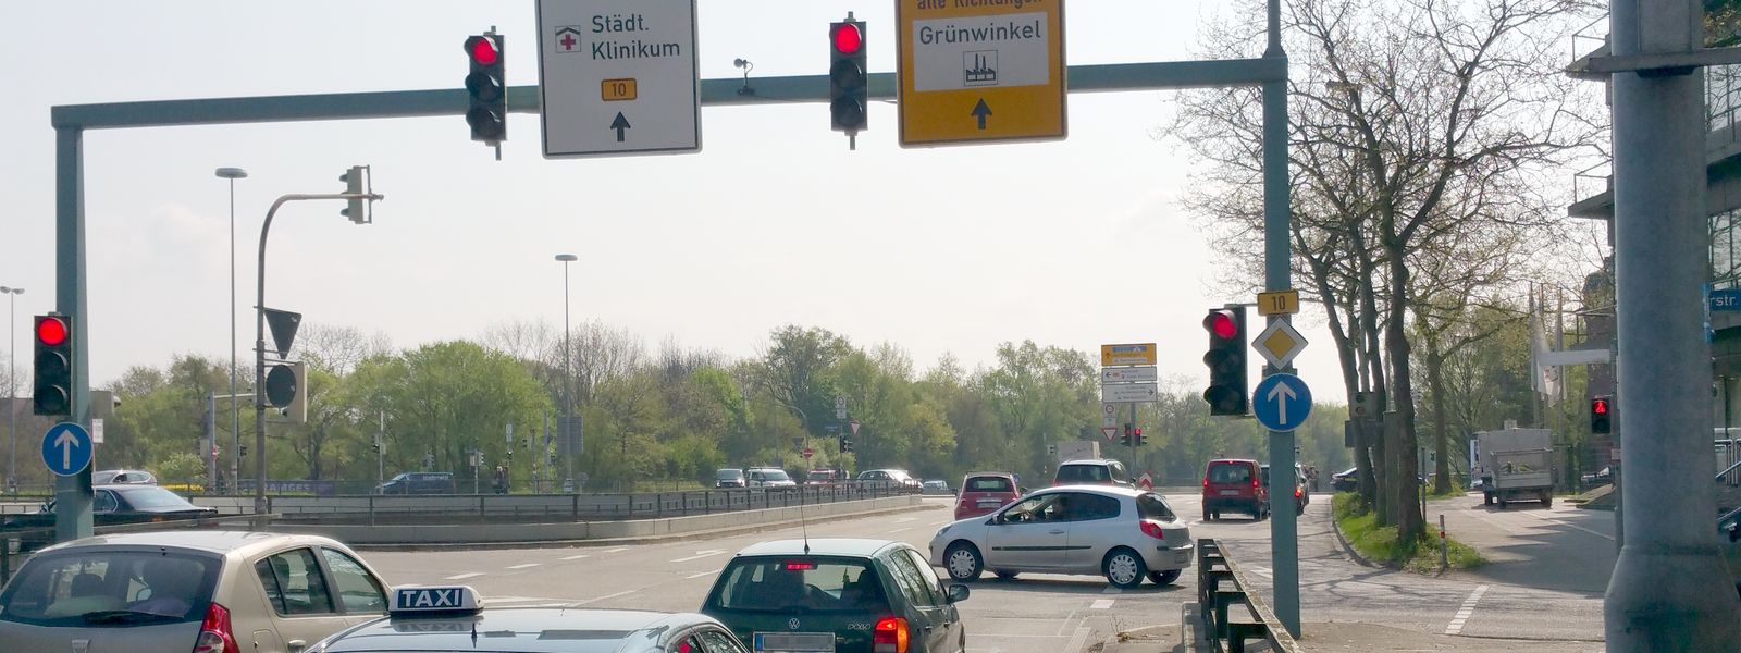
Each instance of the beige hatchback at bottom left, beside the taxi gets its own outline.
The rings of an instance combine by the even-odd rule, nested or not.
[[[385,587],[322,536],[94,536],[37,552],[0,590],[0,650],[294,653],[387,615]]]

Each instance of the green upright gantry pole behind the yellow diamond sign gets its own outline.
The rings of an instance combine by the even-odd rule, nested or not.
[[[1281,49],[1281,0],[1269,0],[1269,47],[1264,59],[1287,61]],[[1264,82],[1264,289],[1287,291],[1290,277],[1288,219],[1288,82]],[[1287,320],[1287,315],[1271,315]],[[1283,369],[1266,369],[1281,373]],[[1288,479],[1283,488],[1281,479]],[[1299,522],[1294,514],[1294,432],[1269,432],[1269,562],[1274,569],[1276,618],[1301,636]]]

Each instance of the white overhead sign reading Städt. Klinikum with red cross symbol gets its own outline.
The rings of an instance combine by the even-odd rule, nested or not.
[[[538,0],[547,158],[702,150],[696,0]]]

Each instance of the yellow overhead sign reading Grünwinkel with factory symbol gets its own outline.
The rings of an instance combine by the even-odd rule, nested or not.
[[[900,145],[1062,139],[1064,0],[897,0]]]

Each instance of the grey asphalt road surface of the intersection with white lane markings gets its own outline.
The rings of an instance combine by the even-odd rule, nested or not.
[[[1168,500],[1175,512],[1189,517],[1193,536],[1222,538],[1234,561],[1254,571],[1260,590],[1269,594],[1267,522],[1229,519],[1203,524],[1196,495],[1168,495]],[[924,549],[937,528],[951,519],[947,507],[947,498],[928,498],[924,508],[811,524],[808,531],[810,536],[898,538]],[[1428,512],[1436,514],[1431,507]],[[467,583],[491,604],[693,611],[733,552],[763,540],[797,536],[799,528],[783,528],[627,547],[367,552],[366,557],[392,583]],[[1612,542],[1607,545],[1612,547]],[[1403,632],[1403,639],[1408,632],[1574,643],[1600,639],[1600,590],[1591,594],[1527,580],[1513,583],[1504,578],[1506,573],[1499,568],[1499,573],[1435,578],[1365,568],[1341,552],[1330,531],[1328,495],[1314,496],[1301,517],[1301,599],[1307,643],[1313,639],[1311,623],[1323,622],[1382,623]],[[1135,590],[1112,589],[1100,576],[1022,575],[999,582],[987,575],[973,585],[973,596],[959,609],[970,651],[1076,653],[1119,630],[1177,625],[1182,604],[1194,597],[1194,569],[1172,587],[1144,583]],[[1549,611],[1553,618],[1543,618]],[[1398,643],[1388,643],[1372,650],[1396,648]],[[1600,643],[1591,646],[1600,648]]]

